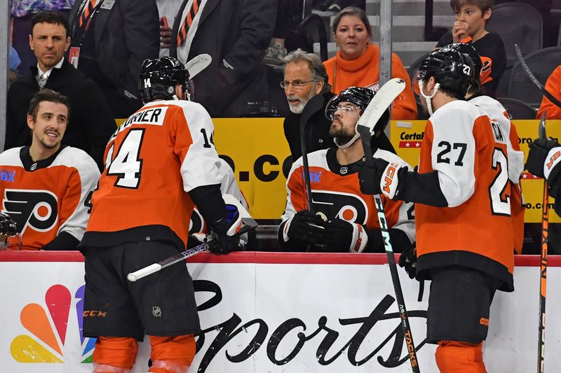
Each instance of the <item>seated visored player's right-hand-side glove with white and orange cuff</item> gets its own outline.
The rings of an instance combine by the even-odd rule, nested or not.
[[[368,243],[368,235],[364,227],[357,223],[349,223],[346,220],[334,218],[329,222],[323,222],[325,235],[323,236],[322,248],[330,253],[360,253]]]

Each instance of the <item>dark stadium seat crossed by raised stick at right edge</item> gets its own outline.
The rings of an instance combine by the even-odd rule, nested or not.
[[[536,50],[524,59],[541,85],[545,85],[553,70],[561,64],[561,47]],[[508,97],[523,101],[533,108],[538,108],[541,103],[541,91],[527,77],[520,62],[516,62],[513,66],[511,80],[508,83]]]

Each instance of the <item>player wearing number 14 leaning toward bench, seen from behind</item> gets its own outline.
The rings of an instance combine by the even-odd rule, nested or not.
[[[184,251],[194,204],[217,237],[213,252],[238,247],[231,228],[239,219],[227,218],[212,120],[203,106],[184,100],[187,80],[175,58],[145,60],[138,78],[145,104],[105,150],[79,246],[86,259],[83,332],[98,337],[95,373],[130,372],[144,334],[149,372],[189,370],[200,324],[185,263],[136,282],[126,274]]]

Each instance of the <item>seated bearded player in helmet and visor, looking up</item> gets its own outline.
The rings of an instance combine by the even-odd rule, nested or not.
[[[355,127],[372,97],[372,90],[350,87],[328,102],[325,116],[335,146],[308,155],[314,213],[306,202],[302,157],[292,164],[278,228],[280,246],[286,251],[384,252],[374,199],[360,192],[356,167],[364,160],[364,150]],[[374,157],[396,162],[400,160],[396,154],[381,148],[388,122],[386,111],[374,127],[372,151]],[[384,196],[382,200],[394,250],[401,252],[414,241],[414,205]]]

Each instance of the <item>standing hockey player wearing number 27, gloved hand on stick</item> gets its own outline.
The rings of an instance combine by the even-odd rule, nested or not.
[[[419,171],[373,159],[360,188],[415,202],[417,279],[431,279],[427,339],[438,343],[440,372],[486,372],[482,341],[496,290],[513,291],[514,235],[507,137],[477,106],[464,101],[471,59],[456,50],[431,52],[418,74],[429,118]],[[412,253],[406,257],[414,260]],[[416,272],[416,273],[415,273]]]

